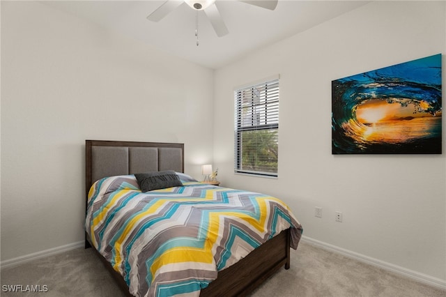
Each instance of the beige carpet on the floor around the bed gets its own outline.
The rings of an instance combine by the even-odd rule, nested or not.
[[[389,296],[446,297],[446,291],[388,273],[339,254],[300,243],[291,250],[291,268],[282,269],[253,297]],[[47,286],[47,292],[4,292],[3,285]],[[1,296],[123,296],[93,250],[82,248],[1,270]]]

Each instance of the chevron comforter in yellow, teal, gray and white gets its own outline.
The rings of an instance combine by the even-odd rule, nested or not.
[[[134,296],[199,296],[217,271],[284,229],[294,249],[302,233],[275,197],[188,180],[144,193],[134,175],[92,185],[85,227]]]

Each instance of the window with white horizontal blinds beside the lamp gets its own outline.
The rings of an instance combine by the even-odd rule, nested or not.
[[[279,79],[235,91],[235,172],[277,176]]]

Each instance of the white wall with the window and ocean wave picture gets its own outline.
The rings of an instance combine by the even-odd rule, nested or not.
[[[308,238],[446,284],[444,116],[443,155],[331,154],[331,81],[445,54],[445,36],[446,2],[375,1],[217,70],[219,180],[281,197]],[[234,174],[233,88],[276,74],[279,178]]]

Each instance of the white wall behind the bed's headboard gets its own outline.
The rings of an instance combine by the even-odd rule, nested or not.
[[[1,1],[1,86],[2,261],[83,240],[85,139],[212,160],[213,70],[42,3]]]

